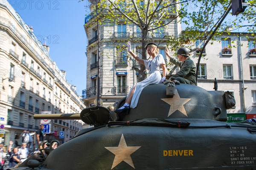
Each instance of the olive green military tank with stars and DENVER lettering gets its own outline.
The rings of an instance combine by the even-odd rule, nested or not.
[[[165,84],[146,86],[138,106],[123,115],[100,106],[80,114],[34,115],[81,118],[94,127],[80,130],[55,150],[42,148],[9,170],[256,169],[256,123],[225,122],[223,91],[179,84],[175,92],[166,95]]]

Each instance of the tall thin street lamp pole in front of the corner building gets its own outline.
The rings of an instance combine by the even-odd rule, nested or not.
[[[99,29],[99,22],[98,22],[98,6],[97,4],[100,2],[100,0],[89,0],[89,2],[93,5],[96,6],[96,19],[97,19],[97,30],[98,30],[98,76],[97,76],[97,105],[100,104],[100,101],[99,101],[99,80],[100,80],[100,76],[99,76],[99,53],[100,53],[100,29]]]

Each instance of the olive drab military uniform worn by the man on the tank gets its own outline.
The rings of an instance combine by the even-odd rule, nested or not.
[[[174,80],[183,84],[195,85],[195,63],[190,59],[190,57],[188,57],[184,62],[171,57],[170,62],[180,67],[180,71],[175,75],[172,75],[171,78],[174,78]]]

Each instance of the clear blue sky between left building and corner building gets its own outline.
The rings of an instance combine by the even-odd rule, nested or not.
[[[86,89],[87,37],[84,17],[88,1],[8,0],[23,21],[32,26],[41,43],[50,47],[50,57],[58,69],[66,71],[66,80],[76,86],[78,95]],[[47,37],[47,40],[44,38]]]

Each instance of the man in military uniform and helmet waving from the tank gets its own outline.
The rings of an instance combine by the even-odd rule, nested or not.
[[[181,47],[177,51],[178,60],[169,55],[169,50],[165,49],[167,57],[170,58],[170,62],[180,67],[180,71],[173,75],[169,80],[179,81],[183,84],[195,85],[195,64],[189,57],[189,49]]]

